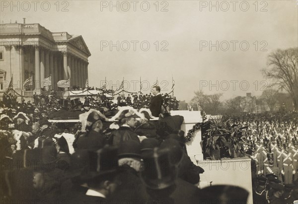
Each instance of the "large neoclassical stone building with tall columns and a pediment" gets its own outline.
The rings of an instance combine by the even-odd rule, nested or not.
[[[31,76],[37,92],[50,75],[52,89],[68,78],[71,86],[84,87],[90,56],[81,35],[53,33],[38,23],[0,24],[0,92],[8,88],[11,76],[18,92]]]

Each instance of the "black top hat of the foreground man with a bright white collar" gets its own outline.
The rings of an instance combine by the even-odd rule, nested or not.
[[[118,148],[114,146],[105,146],[97,151],[89,151],[87,171],[81,175],[82,179],[87,181],[98,176],[116,173],[118,170],[117,153]]]

